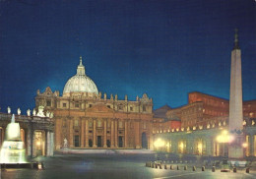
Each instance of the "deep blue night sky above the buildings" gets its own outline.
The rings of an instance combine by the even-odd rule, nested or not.
[[[34,107],[36,89],[62,94],[83,56],[97,89],[154,109],[201,91],[229,98],[234,29],[243,99],[256,99],[255,0],[0,0],[0,107]]]

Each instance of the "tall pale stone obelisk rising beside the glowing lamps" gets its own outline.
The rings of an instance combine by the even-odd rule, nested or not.
[[[230,97],[229,97],[229,123],[228,130],[233,141],[228,145],[228,158],[243,158],[242,144],[244,136],[243,112],[242,112],[242,74],[241,74],[241,50],[238,44],[238,30],[234,34],[234,47],[231,51],[230,73]]]

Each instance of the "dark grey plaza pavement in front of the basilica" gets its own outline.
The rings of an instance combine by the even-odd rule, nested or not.
[[[147,161],[160,158],[166,161],[167,169],[146,167]],[[6,169],[1,172],[1,179],[168,179],[168,178],[256,178],[256,171],[245,173],[244,168],[238,168],[237,173],[221,172],[217,167],[212,172],[212,166],[206,166],[202,171],[203,161],[210,157],[196,155],[181,155],[173,153],[156,153],[144,149],[70,149],[55,152],[50,157],[35,157],[34,161],[42,161],[45,169]],[[221,158],[214,158],[221,159]],[[173,161],[173,163],[170,163]],[[187,163],[185,163],[187,161]],[[169,165],[173,165],[173,170]],[[176,169],[177,165],[179,170]],[[187,170],[184,170],[187,165]],[[196,171],[192,167],[196,165]]]

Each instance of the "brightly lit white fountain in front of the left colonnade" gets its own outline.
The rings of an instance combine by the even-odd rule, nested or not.
[[[27,161],[20,124],[15,122],[14,114],[11,123],[6,127],[5,140],[0,151],[0,165],[2,168],[36,168],[38,165]]]

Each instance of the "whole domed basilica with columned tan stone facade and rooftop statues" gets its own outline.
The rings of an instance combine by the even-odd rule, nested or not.
[[[86,75],[80,58],[77,74],[63,89],[37,90],[35,108],[54,114],[55,149],[152,149],[153,101],[145,93],[135,100],[106,96]]]

